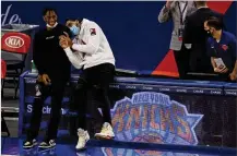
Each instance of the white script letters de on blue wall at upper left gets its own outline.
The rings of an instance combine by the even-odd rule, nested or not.
[[[1,26],[7,24],[22,24],[19,14],[11,13],[12,4],[8,5],[5,11],[1,13]]]

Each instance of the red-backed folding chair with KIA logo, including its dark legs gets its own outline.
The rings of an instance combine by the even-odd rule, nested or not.
[[[17,53],[22,57],[22,59],[9,59],[4,60],[7,63],[7,77],[13,79],[14,82],[14,98],[16,98],[17,89],[19,89],[19,77],[23,72],[25,67],[25,59],[31,46],[31,37],[23,33],[5,33],[1,38],[1,50],[4,52]],[[2,82],[2,97],[3,97],[3,88],[4,82]]]

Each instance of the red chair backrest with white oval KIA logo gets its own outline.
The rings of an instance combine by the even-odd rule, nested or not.
[[[31,37],[23,33],[5,33],[1,38],[2,50],[16,53],[27,53]]]

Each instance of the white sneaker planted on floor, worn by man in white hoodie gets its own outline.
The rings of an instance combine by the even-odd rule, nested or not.
[[[90,135],[87,131],[84,131],[83,129],[78,130],[79,141],[75,146],[78,151],[84,149],[86,142],[90,140]]]

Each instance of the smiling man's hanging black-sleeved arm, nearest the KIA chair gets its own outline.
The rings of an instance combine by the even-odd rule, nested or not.
[[[33,60],[40,75],[45,73],[43,52],[40,36],[36,34],[33,40]]]

